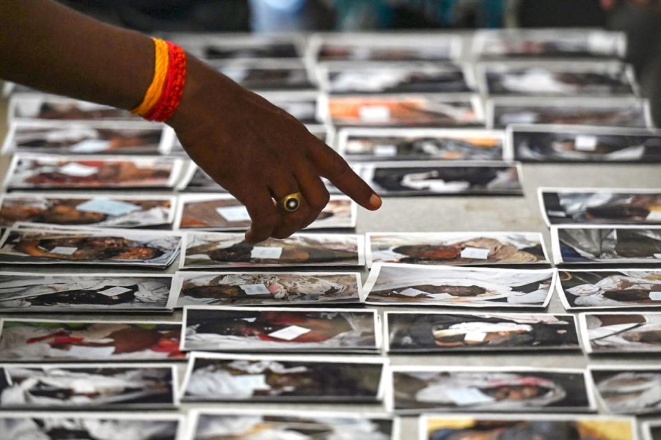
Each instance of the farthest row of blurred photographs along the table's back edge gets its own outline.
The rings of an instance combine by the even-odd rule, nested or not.
[[[342,34],[167,34],[207,61],[304,60],[306,64],[457,61],[474,58],[623,58],[622,32],[594,29],[480,30],[472,43],[450,32]]]

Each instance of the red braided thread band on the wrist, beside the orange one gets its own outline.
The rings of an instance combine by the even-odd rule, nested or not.
[[[186,84],[186,53],[178,45],[167,41],[169,63],[160,97],[145,115],[150,121],[165,122],[179,107]]]

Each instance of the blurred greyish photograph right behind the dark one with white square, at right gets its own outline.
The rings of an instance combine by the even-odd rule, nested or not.
[[[649,101],[638,98],[492,98],[486,102],[487,129],[510,124],[571,124],[647,128]]]

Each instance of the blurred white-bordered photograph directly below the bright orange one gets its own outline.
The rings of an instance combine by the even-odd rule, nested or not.
[[[350,160],[501,160],[502,131],[342,129],[337,151]]]

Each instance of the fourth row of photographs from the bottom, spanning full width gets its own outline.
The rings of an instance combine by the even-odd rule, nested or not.
[[[397,279],[401,281],[397,281]],[[185,306],[428,305],[567,310],[661,307],[661,270],[519,270],[375,265],[357,272],[94,274],[0,271],[0,311],[170,311]]]

